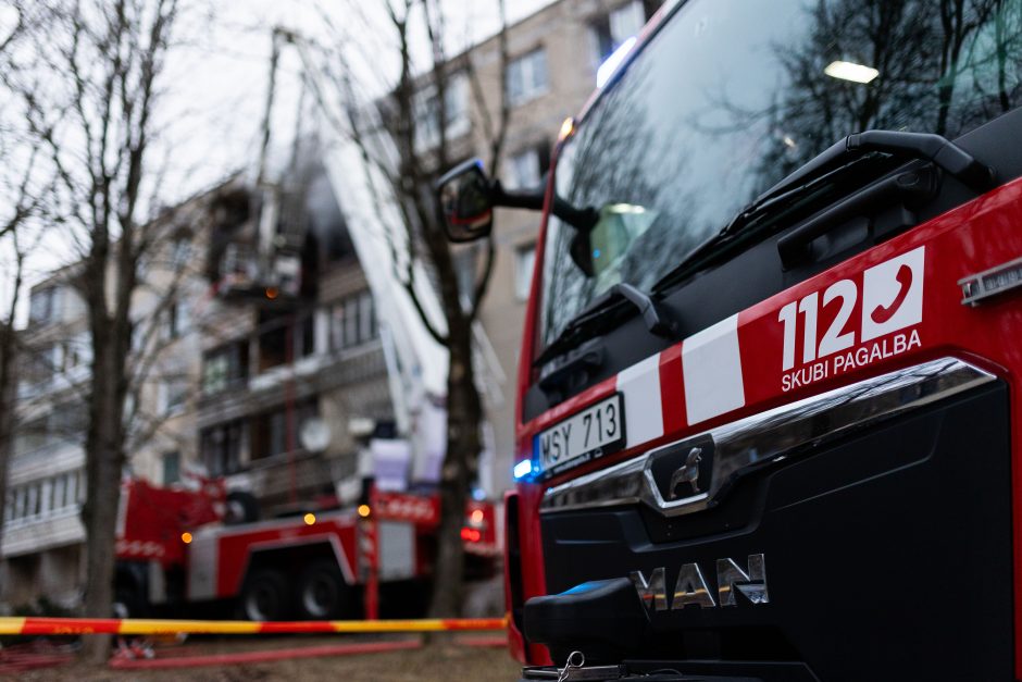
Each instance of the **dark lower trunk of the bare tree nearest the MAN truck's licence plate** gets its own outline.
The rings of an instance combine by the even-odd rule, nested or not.
[[[482,407],[472,369],[472,326],[460,309],[450,320],[447,377],[447,452],[440,471],[440,528],[431,616],[461,615],[464,603],[464,546],[461,529],[469,486],[478,470]]]

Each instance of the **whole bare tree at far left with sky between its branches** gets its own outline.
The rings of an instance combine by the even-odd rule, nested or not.
[[[107,617],[132,387],[132,301],[139,263],[159,236],[159,222],[144,218],[155,179],[149,156],[179,8],[177,0],[49,0],[21,9],[42,20],[32,48],[2,77],[24,101],[30,133],[58,173],[51,203],[62,210],[66,238],[80,256],[74,285],[88,309],[92,345],[84,612]],[[86,658],[105,660],[109,644],[109,637],[87,638]]]

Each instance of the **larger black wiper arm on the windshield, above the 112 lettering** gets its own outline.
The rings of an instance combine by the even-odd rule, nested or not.
[[[872,170],[875,177],[876,163],[882,164],[883,174],[894,170],[905,159],[928,161],[977,193],[986,191],[996,184],[993,169],[939,135],[898,131],[867,131],[849,135],[739,211],[723,230],[699,245],[661,277],[652,292],[660,293],[699,271],[735,241],[740,233],[764,216],[783,218],[830,194],[835,183],[851,179],[863,170]],[[775,213],[778,208],[780,213]]]

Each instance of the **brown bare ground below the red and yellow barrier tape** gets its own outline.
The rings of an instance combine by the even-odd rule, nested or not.
[[[273,637],[260,640],[211,640],[191,642],[176,652],[158,652],[158,657],[219,654],[239,650],[285,649],[296,646],[323,646],[351,642],[352,638],[303,637],[301,640]],[[519,679],[519,664],[506,648],[474,647],[463,644],[434,643],[419,649],[359,656],[334,656],[261,662],[252,665],[216,666],[171,670],[109,670],[87,668],[76,664],[45,670],[23,671],[18,680],[53,682],[269,682],[286,680],[342,680],[342,682],[513,682]],[[10,679],[10,678],[8,678]]]

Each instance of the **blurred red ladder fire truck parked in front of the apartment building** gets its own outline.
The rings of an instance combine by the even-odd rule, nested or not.
[[[402,616],[425,607],[438,522],[435,496],[373,489],[363,504],[334,500],[303,513],[252,519],[254,499],[222,481],[198,489],[124,484],[117,533],[121,617],[233,606],[249,620],[321,620],[379,613],[381,590],[403,590]],[[491,503],[471,500],[462,538],[470,567],[499,551]],[[407,596],[413,595],[413,596]],[[417,596],[415,596],[417,595]]]

